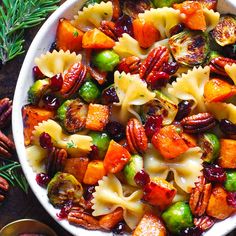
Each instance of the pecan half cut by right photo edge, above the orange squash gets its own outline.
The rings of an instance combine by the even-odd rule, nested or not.
[[[236,63],[236,60],[227,57],[216,57],[210,61],[210,69],[212,73],[228,76],[225,71],[226,65],[232,65]]]

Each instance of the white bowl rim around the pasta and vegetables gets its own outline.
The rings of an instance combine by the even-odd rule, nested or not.
[[[234,0],[232,0],[233,2]],[[26,149],[24,146],[23,137],[23,124],[22,124],[22,114],[21,108],[23,105],[27,104],[27,91],[30,85],[33,83],[32,68],[34,66],[34,59],[45,53],[52,42],[55,40],[55,33],[58,24],[58,20],[61,17],[72,18],[74,14],[80,9],[84,0],[67,0],[62,6],[59,7],[43,24],[36,37],[34,38],[28,53],[25,57],[23,66],[20,71],[18,82],[16,85],[14,101],[13,101],[13,114],[12,114],[12,126],[13,126],[13,136],[16,144],[17,154],[22,165],[25,176],[32,188],[34,194],[47,210],[47,212],[68,232],[73,235],[86,235],[86,236],[105,236],[112,235],[110,233],[105,233],[102,231],[89,231],[80,227],[76,227],[68,223],[67,220],[58,220],[56,214],[58,210],[55,209],[48,201],[46,190],[41,188],[35,181],[35,173],[27,162]],[[233,3],[234,4],[234,3]],[[236,9],[235,9],[236,13]],[[215,235],[225,235],[236,226],[236,215],[216,223],[205,235],[215,236]]]

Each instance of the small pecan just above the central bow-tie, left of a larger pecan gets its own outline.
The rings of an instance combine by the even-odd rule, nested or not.
[[[119,72],[124,71],[125,73],[138,74],[140,63],[140,58],[136,56],[125,57],[120,61],[117,69]]]

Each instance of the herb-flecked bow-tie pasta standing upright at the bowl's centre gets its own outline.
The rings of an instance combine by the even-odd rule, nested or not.
[[[155,93],[148,90],[147,84],[140,79],[138,74],[131,75],[116,71],[114,74],[114,86],[117,96],[119,97],[119,103],[114,104],[120,106],[120,112],[117,114],[119,120],[125,123],[128,121],[131,114],[140,120],[133,106],[141,106],[153,100]]]

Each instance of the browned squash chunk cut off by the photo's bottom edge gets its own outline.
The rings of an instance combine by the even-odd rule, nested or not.
[[[159,217],[145,213],[132,236],[166,236],[166,228]]]

